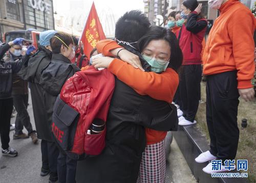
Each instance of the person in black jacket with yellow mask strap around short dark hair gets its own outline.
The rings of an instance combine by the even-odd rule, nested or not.
[[[60,90],[75,72],[80,69],[71,63],[75,57],[72,37],[63,32],[56,33],[50,40],[52,48],[52,60],[48,66],[42,70],[40,77],[40,86],[45,90],[44,99],[47,110],[48,124],[52,123],[52,114],[54,102],[60,93]],[[66,154],[59,151],[57,160],[58,182],[75,182],[76,161],[71,160]],[[49,180],[55,182],[57,180]]]

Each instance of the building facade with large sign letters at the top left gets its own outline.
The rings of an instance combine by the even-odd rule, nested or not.
[[[1,0],[0,33],[54,29],[53,0]]]

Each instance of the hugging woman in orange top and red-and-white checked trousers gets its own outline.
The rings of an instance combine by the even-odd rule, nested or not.
[[[159,35],[162,34],[160,27],[152,27],[148,32],[158,33]],[[168,35],[167,33],[164,33]],[[159,36],[158,35],[158,36]],[[162,35],[163,36],[163,35]],[[167,36],[166,36],[167,37]],[[148,37],[147,37],[148,38]],[[148,38],[150,39],[150,38]],[[175,39],[175,35],[173,34],[173,38]],[[145,49],[140,50],[142,55],[147,55],[150,57],[159,57],[156,54],[156,49],[152,49],[148,52],[148,46],[156,44],[154,41],[165,41],[163,38],[159,38],[159,40],[150,40],[148,45]],[[139,41],[140,42],[140,41]],[[154,43],[153,43],[154,42]],[[166,42],[166,41],[165,41]],[[172,41],[174,42],[174,40]],[[174,53],[176,49],[179,49],[178,42],[176,41],[175,44],[172,45],[172,50]],[[163,44],[163,43],[161,43]],[[122,54],[126,55],[126,50],[122,51],[122,47],[120,47],[115,41],[112,40],[103,40],[97,43],[97,50],[99,53],[103,53],[105,56],[114,56],[112,53],[115,51],[119,51],[119,56],[122,58]],[[164,48],[167,47],[166,45]],[[111,51],[113,50],[113,52]],[[166,50],[166,48],[165,48]],[[179,51],[178,51],[179,53]],[[181,50],[180,50],[181,56]],[[180,62],[179,62],[180,60]],[[181,65],[181,57],[180,59],[173,60],[173,64]],[[104,63],[108,63],[104,65]],[[173,96],[175,94],[176,88],[178,86],[179,77],[177,74],[177,69],[173,69],[168,67],[166,71],[162,72],[161,74],[157,74],[155,72],[143,72],[140,69],[135,69],[132,65],[129,65],[117,58],[109,58],[109,57],[102,57],[93,60],[93,65],[95,67],[108,67],[108,70],[115,74],[117,78],[127,84],[128,86],[132,87],[136,90],[137,93],[141,95],[149,95],[158,100],[164,100],[167,102],[172,102]],[[153,129],[146,128],[146,138],[147,138],[147,146],[145,152],[142,156],[141,161],[141,168],[140,168],[140,175],[137,182],[155,182],[156,178],[159,182],[164,182],[165,180],[165,158],[164,158],[164,138],[167,132],[160,132]],[[161,147],[159,147],[159,144]],[[153,148],[156,148],[155,153],[152,151]],[[161,149],[161,150],[159,150]],[[146,158],[147,156],[152,156],[153,162],[148,161]],[[145,168],[147,167],[147,168]],[[153,168],[148,168],[153,167]],[[152,170],[154,169],[154,170]],[[153,173],[153,174],[152,174]],[[153,175],[153,177],[151,176]]]

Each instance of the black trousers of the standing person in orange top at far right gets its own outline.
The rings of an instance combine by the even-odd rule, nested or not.
[[[239,93],[237,71],[207,76],[206,120],[210,152],[219,160],[233,160],[237,154]]]

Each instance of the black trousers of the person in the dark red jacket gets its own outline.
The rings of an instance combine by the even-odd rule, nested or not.
[[[201,65],[183,65],[180,78],[180,99],[183,116],[193,122],[200,100]]]

